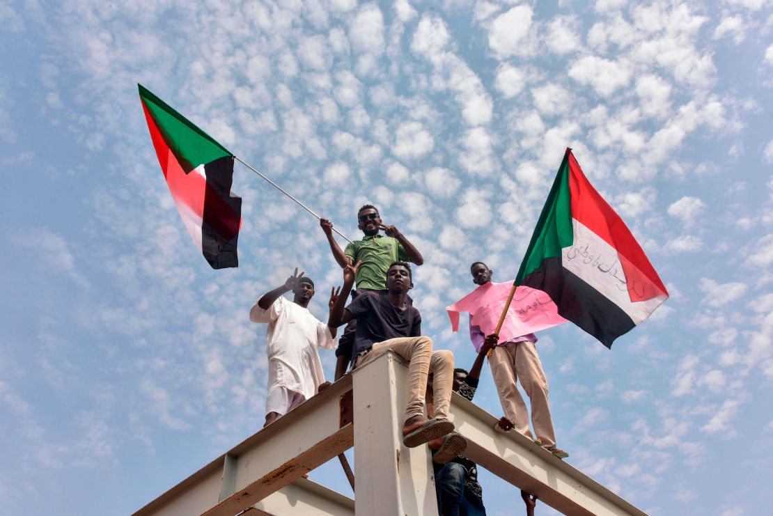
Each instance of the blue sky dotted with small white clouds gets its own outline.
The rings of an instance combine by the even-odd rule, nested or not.
[[[769,514],[771,7],[0,2],[0,514],[128,514],[257,432],[250,307],[298,266],[325,317],[342,281],[317,220],[238,164],[240,266],[212,270],[137,83],[350,239],[377,205],[461,367],[444,307],[473,261],[515,277],[573,148],[671,297],[611,350],[539,334],[567,462],[651,514]],[[488,368],[475,402],[502,415]],[[351,493],[337,462],[311,478]],[[521,503],[480,479],[489,514]]]

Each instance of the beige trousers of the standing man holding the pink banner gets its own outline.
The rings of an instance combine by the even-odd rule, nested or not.
[[[532,425],[537,439],[543,446],[556,446],[556,433],[553,430],[553,418],[550,416],[550,403],[547,401],[547,378],[542,369],[540,356],[532,341],[508,342],[496,346],[489,357],[491,373],[499,402],[507,419],[514,428],[529,439],[533,439],[529,430],[529,412],[526,403],[516,387],[520,379],[523,390],[529,396],[532,409]]]

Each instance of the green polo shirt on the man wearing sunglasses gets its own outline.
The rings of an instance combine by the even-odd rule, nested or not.
[[[397,260],[408,261],[408,253],[403,244],[391,236],[381,233],[366,236],[362,240],[349,243],[344,251],[352,259],[352,265],[362,260],[357,269],[355,283],[357,288],[386,290],[386,271]]]

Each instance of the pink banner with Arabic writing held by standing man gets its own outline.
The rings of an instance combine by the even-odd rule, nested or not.
[[[494,333],[499,317],[507,303],[512,282],[485,283],[450,307],[445,307],[451,317],[451,329],[459,331],[459,312],[472,314],[472,324],[483,333]],[[520,286],[512,296],[512,303],[499,331],[499,342],[514,337],[552,328],[567,322],[558,314],[558,307],[542,290]]]

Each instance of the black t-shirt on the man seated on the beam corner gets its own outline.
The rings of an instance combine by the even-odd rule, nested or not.
[[[421,335],[421,314],[411,304],[405,310],[394,306],[386,298],[386,290],[363,292],[346,307],[357,320],[354,343],[349,353],[340,349],[336,355],[354,359],[360,351],[371,348],[376,342],[390,338],[418,337]]]

